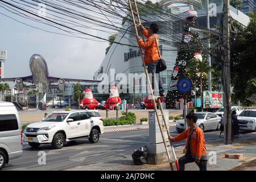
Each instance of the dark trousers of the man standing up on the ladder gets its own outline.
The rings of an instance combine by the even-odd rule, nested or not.
[[[159,93],[164,93],[163,81],[162,81],[162,78],[160,77],[159,71],[156,70],[156,65],[158,65],[157,61],[152,64],[147,64],[148,74],[152,75],[152,89],[154,90],[155,88],[155,73],[156,73],[156,77],[158,78]]]

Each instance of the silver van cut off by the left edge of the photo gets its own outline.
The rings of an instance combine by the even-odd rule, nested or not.
[[[22,156],[22,126],[13,103],[0,102],[0,170]]]

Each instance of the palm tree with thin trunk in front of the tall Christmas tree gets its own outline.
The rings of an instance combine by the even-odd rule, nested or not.
[[[192,59],[188,62],[186,72],[189,77],[199,77],[200,78],[200,96],[201,96],[201,109],[203,111],[203,79],[208,79],[208,72],[214,72],[214,70],[209,67],[208,61],[199,61],[197,59]]]

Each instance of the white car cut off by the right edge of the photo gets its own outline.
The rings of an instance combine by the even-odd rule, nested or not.
[[[256,132],[256,109],[247,109],[237,117],[240,130]]]

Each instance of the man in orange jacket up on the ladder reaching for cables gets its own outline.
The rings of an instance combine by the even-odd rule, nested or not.
[[[157,34],[159,31],[158,24],[151,23],[148,30],[146,30],[142,24],[138,23],[137,26],[141,28],[142,34],[147,38],[146,42],[144,42],[142,38],[137,36],[139,47],[146,51],[144,55],[144,63],[147,66],[148,74],[152,74],[152,89],[154,90],[155,88],[154,80],[156,73],[158,77],[159,96],[165,97],[166,93],[164,93],[163,81],[159,75],[160,71],[156,69],[158,61],[160,60],[159,36]]]

